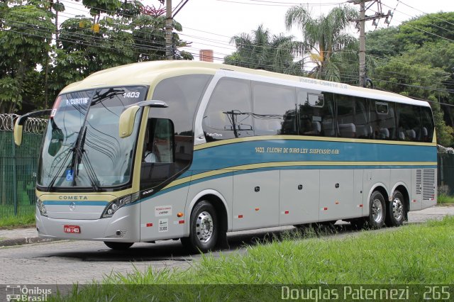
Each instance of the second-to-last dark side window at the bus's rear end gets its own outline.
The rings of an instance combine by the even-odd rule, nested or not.
[[[397,138],[419,141],[421,135],[421,108],[408,104],[397,104]]]

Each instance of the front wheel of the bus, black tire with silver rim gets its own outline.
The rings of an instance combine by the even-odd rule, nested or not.
[[[181,238],[189,252],[208,252],[218,241],[219,225],[214,206],[200,201],[194,206],[189,220],[189,237]]]

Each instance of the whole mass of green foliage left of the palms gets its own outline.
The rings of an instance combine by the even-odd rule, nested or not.
[[[165,60],[164,16],[143,14],[138,0],[82,4],[91,16],[68,18],[57,30],[60,1],[0,1],[0,113],[47,107],[64,86],[101,69]],[[173,26],[175,59],[193,60],[177,50],[187,43],[175,32],[181,24]]]

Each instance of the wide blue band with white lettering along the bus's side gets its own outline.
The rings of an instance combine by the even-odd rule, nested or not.
[[[263,153],[260,149],[263,148]],[[270,148],[270,149],[268,149]],[[271,148],[282,148],[273,150]],[[288,152],[284,152],[286,149]],[[306,149],[307,153],[292,153]],[[335,154],[314,154],[331,150]],[[267,152],[278,151],[278,152]],[[338,154],[337,154],[338,152]],[[436,162],[435,146],[387,145],[310,140],[260,140],[219,145],[194,152],[192,170],[215,170],[265,162]]]

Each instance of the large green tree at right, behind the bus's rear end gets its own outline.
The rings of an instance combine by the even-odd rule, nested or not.
[[[372,78],[380,89],[431,101],[438,143],[452,146],[454,111],[454,13],[432,13],[396,28],[367,34],[367,52],[380,66]]]

